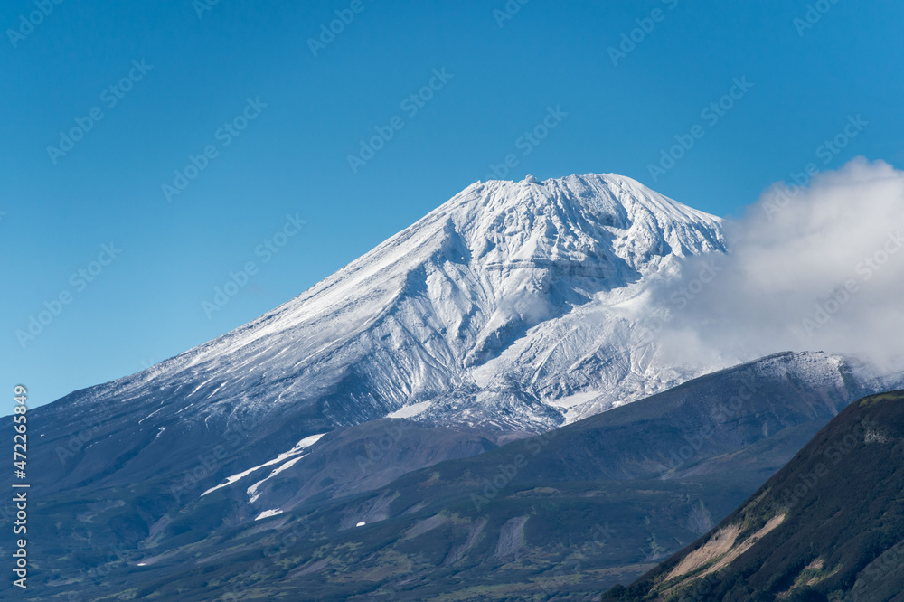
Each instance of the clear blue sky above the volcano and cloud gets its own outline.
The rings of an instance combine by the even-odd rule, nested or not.
[[[34,0],[0,7],[9,407],[15,383],[40,405],[253,319],[509,154],[514,179],[615,172],[722,216],[822,162],[817,147],[849,116],[869,125],[821,167],[904,159],[895,3],[826,1],[803,29],[806,3],[787,0],[511,0],[515,14],[504,0],[43,2],[49,14]],[[349,23],[315,56],[309,39],[337,10]],[[614,64],[610,47],[638,19],[651,31]],[[703,118],[744,77],[753,87],[717,123]],[[431,83],[432,98],[402,104]],[[539,144],[519,140],[557,107],[567,116]],[[348,155],[391,123],[353,172]],[[648,165],[695,125],[703,136],[654,182]],[[61,143],[73,127],[80,140]],[[168,202],[162,186],[184,184],[174,170],[189,155],[207,165]],[[294,236],[265,261],[259,245],[284,227]],[[256,273],[209,317],[202,303],[249,261]],[[16,334],[53,309],[33,339]]]

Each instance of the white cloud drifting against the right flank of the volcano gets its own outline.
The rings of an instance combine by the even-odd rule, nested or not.
[[[682,281],[656,292],[672,310],[663,353],[706,363],[788,350],[899,361],[902,233],[904,172],[886,163],[854,159],[793,196],[772,186],[728,225],[728,256],[691,259]],[[703,261],[721,270],[693,282]]]

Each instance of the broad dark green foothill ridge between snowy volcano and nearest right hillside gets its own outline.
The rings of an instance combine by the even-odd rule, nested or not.
[[[200,497],[216,476],[186,487],[178,503],[173,477],[114,473],[46,484],[33,506],[28,593],[91,600],[598,597],[709,531],[869,386],[822,354],[779,354],[338,498],[337,484],[366,481],[382,465],[349,466],[353,454],[326,446],[339,460],[306,468],[317,480],[312,496],[257,522],[247,498],[233,491],[244,487]],[[411,433],[385,453],[422,453],[410,442],[428,445],[427,433]],[[345,440],[350,449],[360,443]],[[485,445],[479,437],[466,441]],[[344,473],[331,476],[327,465],[336,461]],[[271,486],[298,491],[298,475]]]

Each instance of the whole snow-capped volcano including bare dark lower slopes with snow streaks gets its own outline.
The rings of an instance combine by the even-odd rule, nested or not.
[[[719,219],[621,176],[473,184],[250,324],[32,409],[33,491],[71,527],[46,551],[253,525],[686,381],[709,367],[657,361],[645,293],[724,250]],[[353,474],[332,446],[387,417],[422,424]]]

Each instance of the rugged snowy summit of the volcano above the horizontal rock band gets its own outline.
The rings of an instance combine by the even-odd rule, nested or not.
[[[409,230],[447,219],[476,258],[493,264],[590,261],[640,272],[669,256],[724,249],[719,218],[616,174],[478,182]]]

